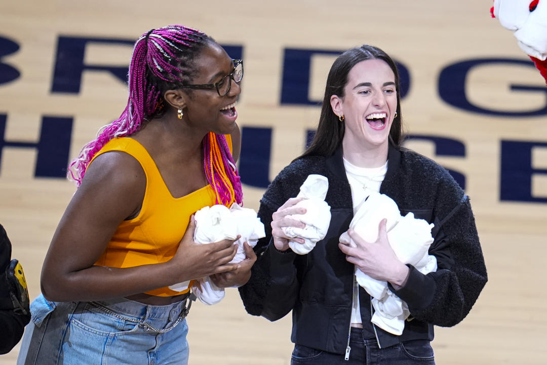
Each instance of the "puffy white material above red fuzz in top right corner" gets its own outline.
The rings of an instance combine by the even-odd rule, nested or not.
[[[513,31],[519,47],[529,56],[547,59],[547,2],[529,11],[530,0],[494,0],[494,16]]]

